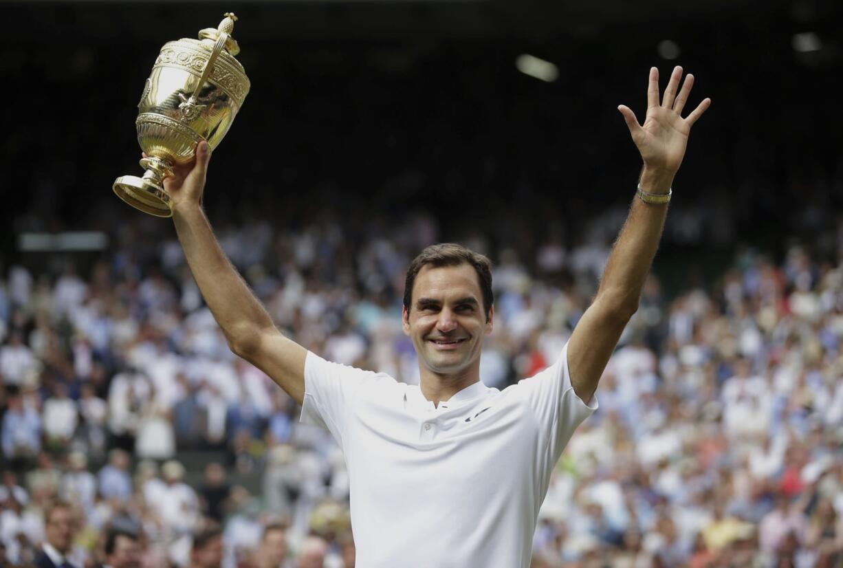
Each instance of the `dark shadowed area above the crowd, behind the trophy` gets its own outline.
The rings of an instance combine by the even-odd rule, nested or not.
[[[671,216],[701,228],[677,237],[668,222],[663,255],[741,242],[781,254],[786,234],[815,244],[843,199],[843,9],[831,0],[0,5],[9,260],[23,230],[112,233],[137,215],[110,185],[141,171],[143,79],[165,41],[227,10],[252,88],[212,162],[215,224],[269,217],[294,229],[340,215],[365,231],[421,210],[444,239],[479,232],[493,249],[526,251],[556,231],[576,244],[583,221],[635,187],[640,160],[617,104],[642,119],[648,67],[666,78],[675,64],[697,78],[689,106],[713,104]],[[819,51],[794,50],[803,32]],[[677,59],[658,55],[662,40]],[[560,78],[520,74],[521,53],[556,63]]]

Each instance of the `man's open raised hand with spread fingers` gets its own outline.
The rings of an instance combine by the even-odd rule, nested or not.
[[[703,99],[687,117],[682,117],[682,110],[688,102],[690,89],[694,86],[694,76],[685,76],[685,82],[679,89],[682,79],[682,67],[674,67],[670,74],[668,88],[659,101],[658,68],[650,69],[650,84],[647,88],[647,116],[641,125],[632,110],[621,104],[618,107],[629,126],[632,141],[644,160],[645,169],[668,174],[672,177],[679,169],[685,157],[690,127],[700,119],[711,105],[711,99]],[[677,94],[679,91],[679,94]]]

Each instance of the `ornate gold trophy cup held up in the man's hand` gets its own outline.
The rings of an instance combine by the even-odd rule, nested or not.
[[[217,29],[202,29],[199,40],[169,41],[155,60],[135,121],[146,171],[141,178],[122,175],[113,185],[118,197],[142,212],[173,215],[164,178],[175,164],[191,161],[201,140],[217,147],[249,94],[249,78],[234,59],[240,52],[231,37],[236,20],[226,13]]]

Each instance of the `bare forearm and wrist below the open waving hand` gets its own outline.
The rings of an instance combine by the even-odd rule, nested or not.
[[[642,171],[642,190],[666,194],[673,183],[673,172]],[[638,308],[644,281],[662,237],[668,206],[632,200],[629,216],[615,241],[597,296],[621,313],[631,316]]]

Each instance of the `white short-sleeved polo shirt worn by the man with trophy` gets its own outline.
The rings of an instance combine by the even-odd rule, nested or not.
[[[384,373],[314,353],[304,367],[302,421],[345,453],[358,568],[528,568],[550,473],[596,409],[573,391],[567,345],[533,378],[438,408]]]

